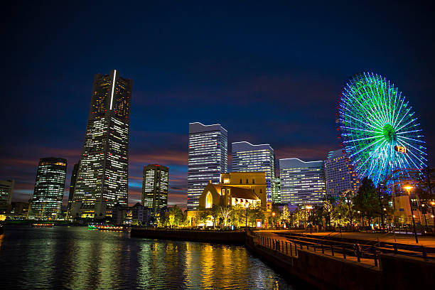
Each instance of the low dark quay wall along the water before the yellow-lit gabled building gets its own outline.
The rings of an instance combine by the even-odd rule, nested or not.
[[[237,245],[245,244],[245,235],[246,234],[243,231],[156,230],[131,228],[131,237],[190,242],[217,242]]]

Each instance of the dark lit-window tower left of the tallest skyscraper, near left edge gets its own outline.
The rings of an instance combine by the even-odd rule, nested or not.
[[[33,214],[41,218],[57,218],[62,208],[67,161],[48,157],[39,160],[33,191]]]

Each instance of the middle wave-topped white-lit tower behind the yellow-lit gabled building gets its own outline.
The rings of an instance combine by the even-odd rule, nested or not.
[[[231,144],[232,171],[266,173],[267,201],[272,201],[275,165],[274,149],[269,144],[252,145],[247,141]]]

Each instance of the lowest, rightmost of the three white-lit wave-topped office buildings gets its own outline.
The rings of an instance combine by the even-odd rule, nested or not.
[[[279,159],[281,203],[321,204],[326,194],[323,161],[304,162],[297,158]]]

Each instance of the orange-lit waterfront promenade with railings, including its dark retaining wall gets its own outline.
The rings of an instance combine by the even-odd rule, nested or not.
[[[247,233],[245,245],[321,289],[424,289],[435,284],[435,248],[430,247],[430,237],[424,237],[421,247],[407,236],[399,243],[387,235],[343,234],[256,230]]]

